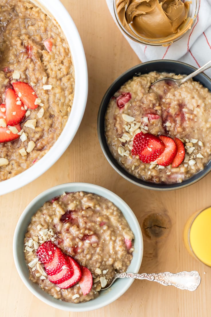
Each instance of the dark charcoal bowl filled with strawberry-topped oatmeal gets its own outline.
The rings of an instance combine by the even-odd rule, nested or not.
[[[98,112],[102,151],[124,178],[155,190],[183,188],[211,168],[211,80],[195,76],[179,88],[159,78],[195,70],[178,61],[137,65],[105,93]]]

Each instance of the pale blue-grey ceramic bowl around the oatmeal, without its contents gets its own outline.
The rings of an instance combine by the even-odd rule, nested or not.
[[[115,301],[127,291],[134,280],[127,278],[118,279],[108,290],[100,292],[100,295],[96,299],[79,304],[59,301],[53,298],[53,296],[42,291],[37,284],[29,280],[28,267],[24,260],[23,253],[23,241],[27,226],[31,221],[31,217],[46,201],[55,196],[61,195],[64,191],[86,191],[101,195],[112,201],[122,211],[135,237],[133,259],[127,270],[128,272],[138,273],[139,271],[143,256],[143,238],[138,220],[136,219],[130,207],[113,192],[94,184],[68,183],[55,186],[34,198],[34,200],[26,207],[17,223],[13,238],[13,256],[17,271],[22,281],[36,297],[50,306],[66,311],[85,312],[101,308]]]

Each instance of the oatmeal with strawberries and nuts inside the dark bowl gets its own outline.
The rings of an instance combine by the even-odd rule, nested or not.
[[[171,81],[150,87],[164,77],[183,76],[151,72],[121,86],[108,105],[105,135],[115,159],[135,177],[155,183],[180,183],[203,170],[211,159],[211,93],[193,80],[179,88]],[[142,150],[146,138],[162,143],[161,153],[168,148],[166,140],[174,143],[172,157],[164,162],[163,152],[143,162],[136,147],[142,142]],[[149,155],[153,145],[145,150]]]

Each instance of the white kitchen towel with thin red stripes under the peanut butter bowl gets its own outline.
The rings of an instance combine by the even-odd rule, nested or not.
[[[106,0],[106,2],[115,19],[113,0]],[[199,12],[193,29],[170,46],[143,45],[134,42],[124,33],[123,35],[142,62],[171,59],[184,61],[199,68],[211,60],[211,0],[199,0]],[[205,73],[211,77],[211,68]]]

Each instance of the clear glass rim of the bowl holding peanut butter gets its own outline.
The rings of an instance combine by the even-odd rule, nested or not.
[[[195,22],[196,22],[196,18],[198,16],[199,13],[199,2],[200,0],[195,0],[195,10],[194,10],[194,16],[193,16],[193,23],[191,25],[190,29],[187,29],[183,34],[181,34],[180,36],[178,36],[177,38],[171,40],[168,39],[169,36],[166,36],[163,40],[161,40],[159,43],[156,43],[156,40],[151,40],[151,41],[147,41],[147,39],[145,37],[138,37],[138,36],[134,36],[133,34],[129,33],[127,31],[127,29],[124,28],[124,26],[122,25],[118,13],[117,13],[117,8],[116,8],[116,0],[113,0],[113,9],[114,9],[114,17],[115,17],[115,22],[118,25],[119,29],[128,36],[128,38],[130,38],[131,40],[133,40],[134,42],[140,43],[140,44],[144,44],[144,45],[151,45],[151,46],[168,46],[171,45],[174,42],[177,42],[178,40],[180,40],[183,36],[187,35],[194,27]],[[135,34],[135,33],[134,33]]]

